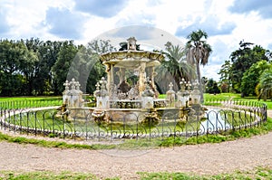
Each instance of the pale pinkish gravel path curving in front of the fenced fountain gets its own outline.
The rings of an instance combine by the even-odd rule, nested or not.
[[[269,110],[268,116],[272,117]],[[78,150],[0,142],[0,169],[71,171],[99,177],[139,179],[137,172],[231,173],[257,166],[272,168],[272,133],[219,144],[153,150]]]

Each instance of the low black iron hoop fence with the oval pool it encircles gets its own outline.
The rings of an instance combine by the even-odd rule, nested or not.
[[[137,114],[114,110],[106,120],[93,117],[92,109],[70,109],[69,114],[63,114],[55,107],[44,106],[44,103],[34,104],[35,107],[43,108],[5,108],[21,107],[24,103],[0,103],[1,128],[77,140],[151,140],[223,134],[229,130],[257,127],[267,120],[266,104],[253,101],[206,100],[203,113],[183,109],[183,116],[169,109],[158,112],[159,116],[153,116],[150,111]]]

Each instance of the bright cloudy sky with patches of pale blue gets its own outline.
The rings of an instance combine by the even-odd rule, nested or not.
[[[86,44],[135,36],[163,48],[165,41],[185,44],[201,29],[212,47],[201,75],[219,81],[221,65],[240,41],[272,51],[271,12],[270,0],[0,0],[0,38]]]

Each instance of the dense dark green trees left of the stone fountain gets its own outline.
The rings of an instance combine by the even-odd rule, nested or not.
[[[0,96],[60,95],[63,82],[74,78],[92,93],[104,67],[99,53],[112,50],[109,41],[86,46],[73,41],[0,40]]]

